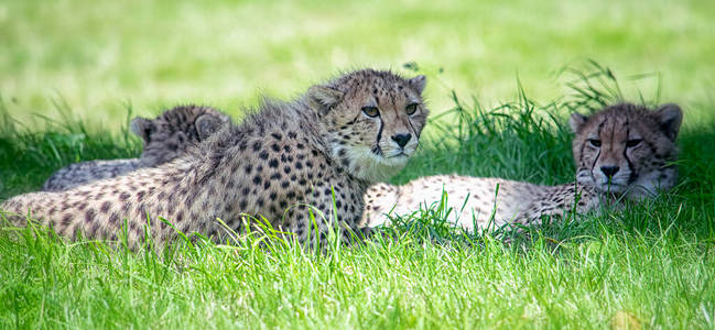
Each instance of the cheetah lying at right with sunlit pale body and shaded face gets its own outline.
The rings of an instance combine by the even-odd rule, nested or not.
[[[466,230],[509,223],[539,223],[542,216],[598,209],[621,197],[641,199],[675,185],[675,138],[682,112],[675,105],[656,111],[620,103],[585,117],[574,113],[573,155],[576,182],[542,186],[500,178],[457,175],[423,177],[404,186],[378,184],[365,195],[361,226],[389,221],[438,205],[446,193],[449,221]]]

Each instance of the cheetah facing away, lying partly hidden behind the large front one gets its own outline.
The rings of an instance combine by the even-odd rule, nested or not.
[[[144,151],[139,158],[72,164],[55,172],[42,186],[42,190],[67,190],[141,167],[164,164],[184,154],[189,145],[206,140],[228,124],[230,118],[225,113],[199,106],[175,107],[153,120],[137,117],[131,121],[130,129],[144,142]]]

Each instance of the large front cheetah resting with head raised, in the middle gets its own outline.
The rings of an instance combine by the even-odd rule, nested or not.
[[[359,229],[366,189],[404,167],[419,144],[429,112],[425,80],[357,70],[292,102],[266,100],[241,125],[170,163],[67,191],[22,195],[2,208],[19,215],[11,220],[24,223],[29,213],[67,237],[113,240],[127,219],[130,244],[143,238],[148,215],[158,245],[176,235],[158,217],[180,232],[220,240],[215,220],[240,232],[245,215],[266,217],[301,243],[323,242],[328,228],[348,241]]]

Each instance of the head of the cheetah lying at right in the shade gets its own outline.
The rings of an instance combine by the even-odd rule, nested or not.
[[[572,114],[576,179],[629,198],[654,196],[675,185],[675,138],[682,122],[676,105],[658,110],[620,103],[591,116]]]

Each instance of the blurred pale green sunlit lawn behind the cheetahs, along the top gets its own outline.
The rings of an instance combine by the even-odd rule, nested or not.
[[[556,73],[593,58],[660,75],[648,84],[686,109],[715,88],[713,18],[715,1],[4,0],[0,96],[30,127],[66,103],[118,130],[128,106],[237,114],[260,94],[288,98],[340,70],[416,63],[440,112],[451,89],[494,105],[516,95],[517,79],[539,100],[556,98]]]

